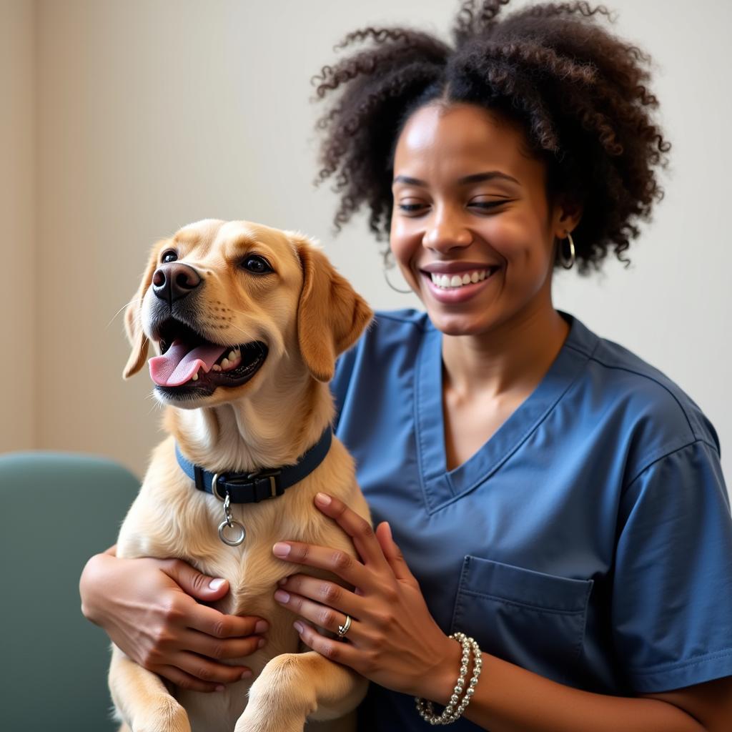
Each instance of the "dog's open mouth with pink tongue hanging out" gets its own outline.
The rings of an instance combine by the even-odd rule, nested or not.
[[[204,396],[219,386],[241,386],[264,364],[267,347],[261,341],[223,346],[213,343],[176,318],[155,329],[160,356],[149,361],[150,376],[166,395]]]

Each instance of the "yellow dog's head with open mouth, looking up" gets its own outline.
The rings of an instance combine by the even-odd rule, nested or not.
[[[155,394],[173,406],[236,400],[283,359],[329,381],[372,315],[304,234],[204,220],[154,245],[125,313],[123,376],[141,370],[154,343]]]

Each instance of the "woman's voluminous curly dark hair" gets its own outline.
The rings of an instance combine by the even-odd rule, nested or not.
[[[313,77],[316,100],[338,90],[316,125],[324,139],[315,181],[335,175],[336,231],[366,203],[370,230],[388,239],[406,120],[436,100],[467,102],[520,124],[545,162],[548,199],[583,206],[574,232],[580,272],[599,269],[608,247],[627,264],[638,220],[662,198],[656,169],[671,149],[652,119],[650,56],[597,22],[612,20],[603,6],[537,4],[499,18],[508,3],[463,1],[452,45],[415,29],[367,27],[335,47],[368,44]]]

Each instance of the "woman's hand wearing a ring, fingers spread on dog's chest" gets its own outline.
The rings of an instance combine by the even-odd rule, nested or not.
[[[275,544],[272,551],[280,559],[326,569],[356,588],[348,591],[302,574],[283,580],[275,600],[310,621],[296,621],[300,638],[381,686],[446,703],[460,668],[460,645],[444,635],[427,610],[389,524],[381,523],[375,532],[342,501],[323,493],[315,505],[353,539],[361,561],[326,547]],[[351,616],[347,643],[315,630],[318,625],[337,632],[346,614]]]

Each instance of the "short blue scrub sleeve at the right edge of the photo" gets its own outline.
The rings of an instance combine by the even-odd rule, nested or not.
[[[705,441],[656,460],[625,490],[612,626],[636,692],[732,675],[732,518]]]

